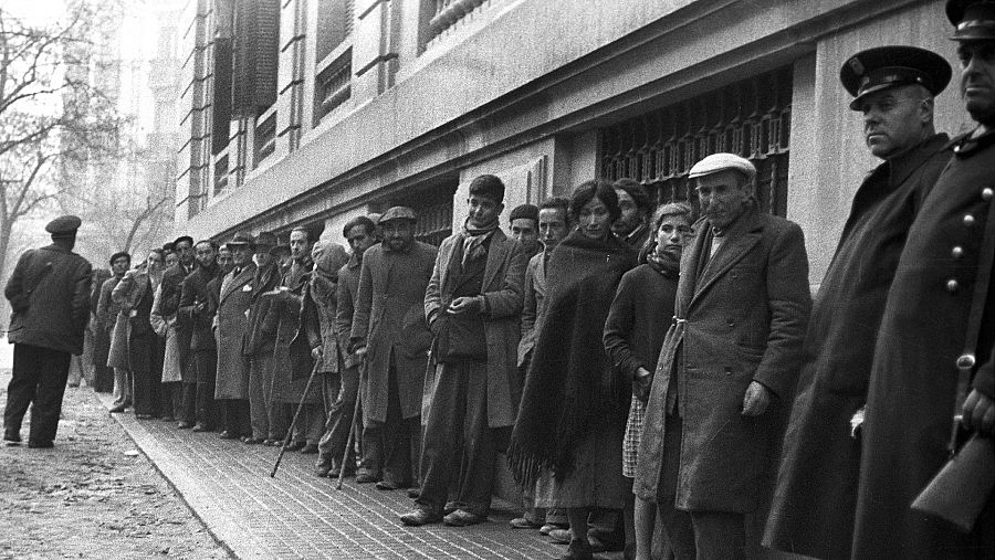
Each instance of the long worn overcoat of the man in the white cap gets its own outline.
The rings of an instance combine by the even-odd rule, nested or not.
[[[753,209],[706,257],[710,229],[699,220],[681,257],[675,319],[657,363],[633,492],[671,499],[677,509],[743,514],[756,508],[775,467],[784,406],[775,399],[764,414],[744,416],[743,395],[752,381],[790,395],[811,306],[808,257],[797,224]],[[677,488],[664,488],[664,419],[674,387],[683,433]]]

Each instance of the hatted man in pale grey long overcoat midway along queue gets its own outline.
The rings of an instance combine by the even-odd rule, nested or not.
[[[252,278],[255,276],[255,240],[249,232],[239,232],[227,243],[231,251],[232,270],[221,281],[218,300],[212,302],[214,335],[218,340],[218,369],[214,399],[221,409],[221,439],[251,437],[249,418],[249,358],[243,339],[249,329],[249,304],[252,302]]]

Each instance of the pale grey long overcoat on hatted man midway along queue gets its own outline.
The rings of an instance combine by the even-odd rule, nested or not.
[[[249,263],[235,274],[224,275],[216,304],[214,324],[218,340],[216,399],[249,399],[249,358],[243,352],[249,330],[249,304],[252,303],[252,278],[255,264]]]

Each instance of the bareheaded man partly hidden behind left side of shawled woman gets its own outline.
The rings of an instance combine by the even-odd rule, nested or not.
[[[535,334],[542,324],[544,302],[546,297],[546,266],[553,250],[570,232],[570,201],[563,197],[546,199],[538,210],[538,232],[543,250],[528,260],[525,267],[525,299],[522,306],[522,338],[519,340],[519,376],[525,379],[528,362],[532,361],[532,349],[535,347]],[[524,385],[524,381],[522,383]],[[522,400],[521,387],[512,400]],[[515,529],[540,529],[549,535],[556,529],[569,527],[566,514],[557,509],[535,507],[534,488],[524,488],[523,505],[525,513],[509,521]]]

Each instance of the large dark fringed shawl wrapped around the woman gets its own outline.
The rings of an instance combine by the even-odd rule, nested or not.
[[[524,487],[543,469],[564,478],[574,468],[574,450],[594,430],[626,422],[631,389],[611,366],[601,336],[618,283],[635,265],[636,252],[614,236],[574,232],[553,251],[546,315],[507,454]]]

